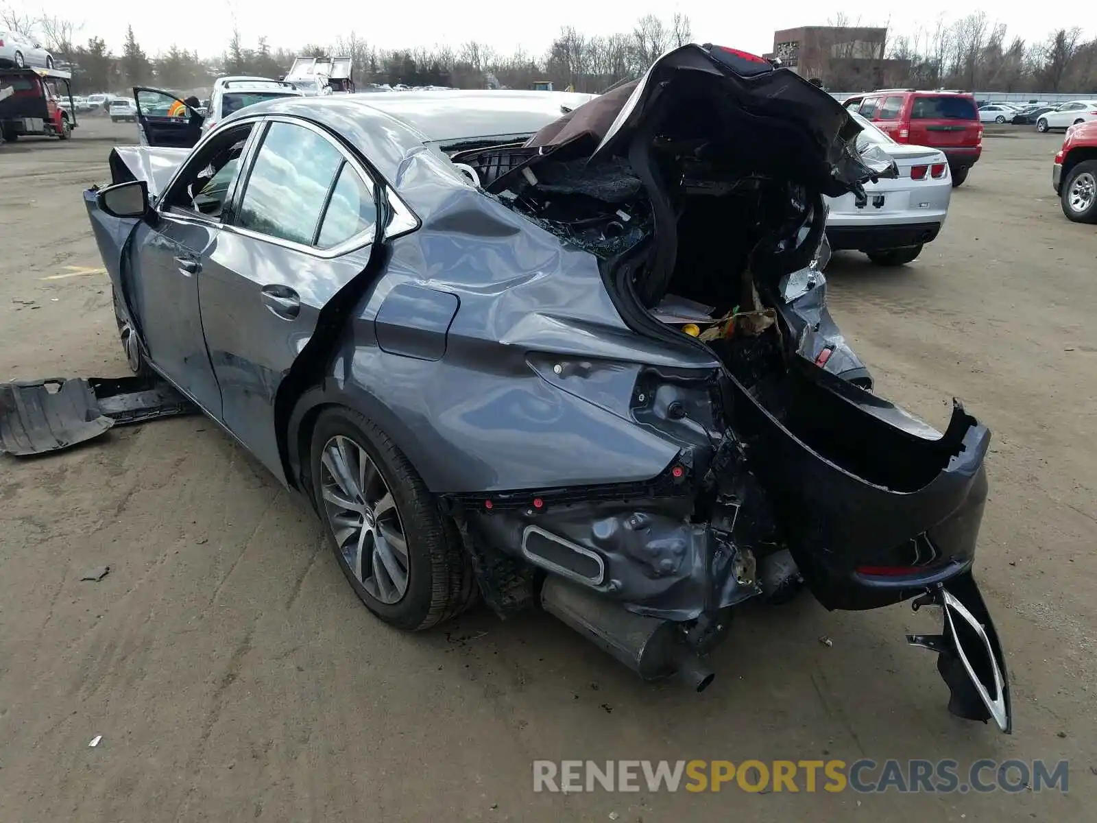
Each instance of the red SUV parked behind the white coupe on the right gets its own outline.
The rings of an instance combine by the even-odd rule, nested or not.
[[[968,179],[968,170],[983,154],[979,106],[966,92],[882,89],[849,98],[844,105],[871,120],[896,143],[943,151],[953,187]]]

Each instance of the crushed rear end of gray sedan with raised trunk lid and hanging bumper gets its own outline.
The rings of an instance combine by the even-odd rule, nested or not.
[[[644,484],[446,499],[489,602],[532,601],[514,597],[536,586],[532,564],[548,611],[641,676],[685,670],[698,690],[711,677],[697,655],[744,600],[800,580],[829,609],[928,597],[947,630],[920,644],[940,655],[950,709],[1009,731],[971,577],[989,431],[957,403],[940,435],[872,394],[826,307],[823,195],[863,198],[894,165],[856,151],[859,126],[829,95],[758,60],[685,46],[523,145],[451,154],[474,185],[593,255],[631,329],[711,365],[531,353],[546,383],[676,456]],[[958,629],[961,613],[985,634]]]

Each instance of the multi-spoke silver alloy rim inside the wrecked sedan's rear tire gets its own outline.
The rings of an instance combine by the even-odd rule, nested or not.
[[[392,605],[408,590],[408,550],[393,494],[365,450],[343,435],[320,454],[324,511],[339,552],[362,587]]]

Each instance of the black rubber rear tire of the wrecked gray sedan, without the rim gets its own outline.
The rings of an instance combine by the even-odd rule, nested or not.
[[[377,591],[383,588],[376,580],[376,574],[366,570],[364,557],[358,564],[362,570],[361,578],[351,566],[347,554],[353,553],[350,548],[353,537],[348,541],[344,535],[342,546],[336,538],[332,506],[324,496],[325,476],[332,475],[321,463],[325,450],[332,448],[333,442],[353,444],[360,452],[364,452],[380,473],[392,503],[395,504],[407,560],[405,588],[395,601],[392,596],[386,602],[371,593],[371,588]],[[376,424],[358,412],[341,406],[324,409],[313,428],[309,463],[313,499],[324,521],[328,543],[354,594],[377,618],[398,629],[419,631],[456,617],[476,601],[479,589],[456,526],[442,515],[438,501],[427,489],[422,478]],[[338,488],[328,483],[328,499],[331,499],[332,492],[339,496],[349,496],[340,494]],[[374,516],[372,512],[381,512],[383,507],[377,501],[371,501],[369,493],[363,492],[361,496],[365,500],[365,508],[371,511],[370,519],[380,525],[382,515]],[[342,506],[336,505],[333,508],[341,510]],[[387,506],[384,510],[391,511]],[[346,530],[347,512],[338,518]],[[369,542],[372,543],[372,540]],[[360,549],[359,554],[364,554],[363,550]],[[372,583],[363,579],[367,575],[374,578]],[[385,588],[391,589],[394,579],[388,578]]]

